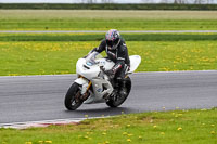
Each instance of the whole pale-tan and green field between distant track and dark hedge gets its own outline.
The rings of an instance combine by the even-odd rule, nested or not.
[[[0,30],[216,30],[217,11],[0,10]]]

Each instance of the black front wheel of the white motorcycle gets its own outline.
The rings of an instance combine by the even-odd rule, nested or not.
[[[74,82],[65,95],[65,107],[68,110],[77,109],[84,101],[80,100],[80,89],[78,83]]]

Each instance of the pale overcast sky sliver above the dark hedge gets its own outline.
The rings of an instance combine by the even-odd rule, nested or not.
[[[0,0],[0,3],[84,3],[87,1],[88,0]],[[102,0],[93,0],[93,1],[100,3]],[[115,3],[143,3],[143,2],[157,3],[162,0],[112,0],[112,1]],[[174,0],[167,0],[167,1],[174,1]],[[188,0],[188,1],[193,2],[195,0]],[[213,3],[217,3],[217,0],[209,0],[209,2],[210,1],[213,1]]]

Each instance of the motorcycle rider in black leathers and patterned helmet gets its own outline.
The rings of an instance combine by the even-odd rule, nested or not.
[[[119,94],[127,94],[125,76],[126,71],[129,70],[130,60],[127,45],[125,40],[120,37],[119,32],[116,29],[110,29],[105,35],[105,39],[103,39],[100,45],[94,48],[91,52],[93,51],[99,53],[105,51],[107,54],[106,58],[115,63],[113,68],[106,70],[105,73],[110,76],[111,79],[116,81],[115,83],[117,83],[117,86],[114,87],[120,88]]]

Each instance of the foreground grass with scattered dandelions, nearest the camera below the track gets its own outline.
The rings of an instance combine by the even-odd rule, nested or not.
[[[1,144],[216,144],[217,108],[87,119],[79,125],[0,129]]]

